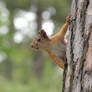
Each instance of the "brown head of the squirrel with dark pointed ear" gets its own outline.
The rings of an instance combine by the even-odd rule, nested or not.
[[[49,46],[49,37],[46,32],[42,29],[36,38],[31,43],[31,47],[35,50],[46,49]]]

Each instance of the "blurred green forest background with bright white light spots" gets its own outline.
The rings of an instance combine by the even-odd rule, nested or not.
[[[0,0],[0,92],[61,92],[62,72],[30,43],[43,28],[59,31],[71,0]]]

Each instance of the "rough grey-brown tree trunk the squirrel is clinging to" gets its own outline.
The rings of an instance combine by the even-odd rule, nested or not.
[[[92,0],[72,0],[63,92],[92,92]]]

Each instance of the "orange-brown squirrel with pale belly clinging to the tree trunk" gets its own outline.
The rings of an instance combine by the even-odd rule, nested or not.
[[[31,47],[35,50],[44,50],[48,53],[48,55],[60,66],[60,68],[64,69],[64,62],[66,57],[66,44],[65,34],[68,29],[68,25],[70,22],[69,15],[66,18],[66,23],[60,29],[58,33],[54,36],[48,37],[46,32],[42,29],[36,38],[31,43]]]

